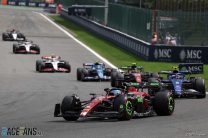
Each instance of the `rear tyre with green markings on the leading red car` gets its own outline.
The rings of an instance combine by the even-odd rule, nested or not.
[[[168,116],[174,112],[174,95],[169,91],[161,91],[155,94],[153,108],[157,115]]]

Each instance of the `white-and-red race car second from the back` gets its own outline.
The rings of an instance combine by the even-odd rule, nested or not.
[[[40,54],[40,47],[32,41],[20,41],[13,44],[13,53]]]

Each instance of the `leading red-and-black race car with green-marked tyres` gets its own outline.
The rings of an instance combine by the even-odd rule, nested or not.
[[[81,101],[77,95],[64,97],[62,103],[55,105],[54,116],[63,117],[67,121],[79,118],[117,118],[130,120],[132,117],[171,115],[175,102],[170,91],[161,91],[154,97],[139,91],[133,86],[125,89],[106,88],[106,95],[96,96],[88,101]]]

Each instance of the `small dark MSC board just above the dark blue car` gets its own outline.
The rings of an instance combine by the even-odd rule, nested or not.
[[[203,63],[180,63],[178,65],[180,71],[189,71],[191,74],[203,74]]]

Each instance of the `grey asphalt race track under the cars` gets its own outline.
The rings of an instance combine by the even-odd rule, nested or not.
[[[0,40],[0,127],[37,127],[43,137],[67,138],[195,138],[208,137],[208,99],[180,99],[172,116],[130,121],[54,118],[54,104],[67,94],[89,99],[108,82],[78,82],[76,68],[98,59],[31,10],[0,9],[0,33],[16,28],[40,45],[40,55],[15,55],[12,43]],[[42,55],[60,55],[72,72],[36,73]],[[30,136],[28,136],[30,137]]]

